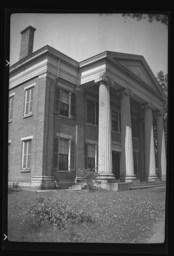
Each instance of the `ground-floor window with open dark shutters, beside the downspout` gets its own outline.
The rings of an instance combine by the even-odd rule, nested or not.
[[[65,138],[54,138],[54,169],[75,170],[75,142]]]

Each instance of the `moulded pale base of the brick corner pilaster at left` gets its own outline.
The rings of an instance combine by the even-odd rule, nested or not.
[[[33,189],[56,189],[56,182],[53,176],[34,176],[31,179]]]

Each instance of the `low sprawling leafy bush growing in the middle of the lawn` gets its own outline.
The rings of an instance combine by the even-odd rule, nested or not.
[[[37,219],[39,225],[64,228],[67,222],[93,222],[95,219],[83,209],[67,205],[59,198],[35,196],[27,216]]]

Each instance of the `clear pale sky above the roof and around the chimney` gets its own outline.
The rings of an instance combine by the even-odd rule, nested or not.
[[[83,61],[104,51],[143,55],[154,75],[167,74],[168,30],[120,13],[14,13],[10,17],[10,66],[19,61],[22,31],[36,28],[33,52],[45,45]],[[133,52],[132,52],[133,51]]]

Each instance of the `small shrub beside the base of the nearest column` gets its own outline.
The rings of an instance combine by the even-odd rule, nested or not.
[[[90,168],[84,168],[80,170],[80,178],[87,182],[87,188],[90,191],[97,191],[102,189],[101,188],[101,181],[97,181],[98,178],[98,171],[97,168],[91,170]]]

